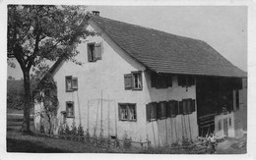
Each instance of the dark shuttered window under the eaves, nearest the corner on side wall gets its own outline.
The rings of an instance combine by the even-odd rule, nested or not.
[[[152,87],[167,88],[172,86],[172,77],[169,75],[151,75]]]

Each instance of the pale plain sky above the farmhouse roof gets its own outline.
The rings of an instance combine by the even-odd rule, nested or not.
[[[206,41],[233,65],[247,71],[247,7],[245,6],[89,6],[100,16]],[[8,76],[22,71],[8,67]]]

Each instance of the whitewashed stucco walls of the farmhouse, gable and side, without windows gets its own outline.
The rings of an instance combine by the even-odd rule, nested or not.
[[[100,31],[94,24],[92,26]],[[93,28],[92,26],[90,28]],[[90,42],[103,44],[102,59],[93,63],[88,62],[87,43]],[[161,100],[195,99],[195,86],[189,87],[186,91],[185,87],[177,86],[177,77],[173,77],[172,87],[152,88],[150,74],[145,67],[130,58],[103,32],[101,36],[88,37],[78,46],[78,50],[80,54],[77,60],[83,65],[65,62],[54,74],[58,89],[59,119],[61,119],[60,112],[66,110],[66,101],[74,101],[75,118],[67,118],[67,123],[71,125],[75,122],[78,126],[81,122],[84,129],[89,129],[91,134],[98,135],[101,131],[104,136],[110,134],[122,138],[124,133],[127,133],[135,141],[146,141],[148,137],[154,145],[165,144],[166,141],[175,142],[181,139],[182,134],[190,138],[188,131],[191,131],[193,139],[197,136],[196,112],[189,116],[179,115],[176,118],[152,123],[146,120],[146,104]],[[124,75],[133,71],[143,71],[143,90],[124,89]],[[66,92],[66,76],[78,78],[77,91]],[[119,121],[118,103],[136,103],[137,121]],[[183,130],[181,129],[181,117],[186,127]]]

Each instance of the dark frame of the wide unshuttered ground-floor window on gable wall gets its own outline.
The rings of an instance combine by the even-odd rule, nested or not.
[[[121,106],[125,106],[125,110],[127,112],[127,119],[122,119],[121,117]],[[134,107],[135,119],[131,119],[131,109]],[[118,103],[118,119],[119,121],[127,121],[127,122],[137,122],[137,105],[136,103]]]

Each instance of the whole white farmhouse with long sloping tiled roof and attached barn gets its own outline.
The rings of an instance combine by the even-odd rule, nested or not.
[[[246,103],[239,96],[246,73],[209,44],[98,12],[89,15],[88,28],[99,34],[77,46],[82,65],[59,59],[51,68],[59,100],[57,127],[82,125],[92,135],[111,138],[126,133],[153,145],[241,132],[236,115]]]

